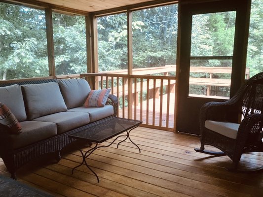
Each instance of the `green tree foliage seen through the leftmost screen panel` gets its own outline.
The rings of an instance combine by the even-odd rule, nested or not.
[[[0,3],[2,79],[48,76],[44,11]]]

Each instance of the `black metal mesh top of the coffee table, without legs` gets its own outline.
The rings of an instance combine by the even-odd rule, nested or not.
[[[91,142],[102,143],[124,131],[128,131],[134,127],[138,127],[142,121],[131,120],[125,118],[107,119],[100,124],[94,124],[82,131],[76,131],[69,135],[75,139],[85,139]]]

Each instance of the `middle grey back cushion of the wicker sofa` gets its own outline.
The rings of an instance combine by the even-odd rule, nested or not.
[[[57,83],[23,85],[22,91],[29,120],[67,111]]]

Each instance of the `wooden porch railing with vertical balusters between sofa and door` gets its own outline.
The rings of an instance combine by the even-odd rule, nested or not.
[[[119,98],[119,117],[142,120],[143,126],[174,131],[175,76],[81,74],[95,77],[99,88],[111,88]]]

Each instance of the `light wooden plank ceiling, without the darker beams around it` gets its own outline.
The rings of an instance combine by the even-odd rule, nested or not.
[[[38,0],[59,7],[71,8],[86,12],[97,12],[101,10],[113,9],[137,3],[144,3],[154,0]]]

